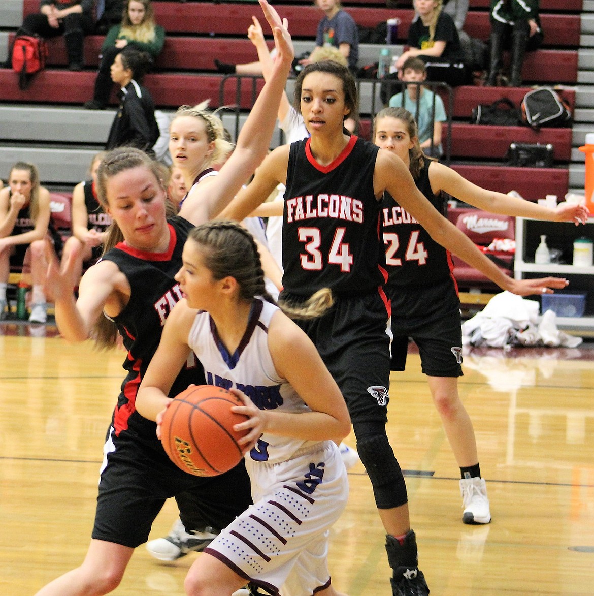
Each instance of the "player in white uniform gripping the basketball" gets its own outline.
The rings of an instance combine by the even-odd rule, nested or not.
[[[136,407],[162,420],[173,371],[194,352],[208,383],[244,402],[232,411],[248,417],[235,430],[248,431],[239,443],[254,500],[194,561],[186,593],[229,596],[249,581],[267,594],[340,596],[326,558],[328,529],[348,498],[334,442],[350,431],[340,389],[266,291],[250,232],[234,222],[200,225],[182,257],[176,280],[185,300],[167,318]]]

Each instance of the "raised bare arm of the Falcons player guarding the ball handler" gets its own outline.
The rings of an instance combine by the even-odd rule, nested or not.
[[[276,60],[272,75],[241,128],[234,152],[221,168],[214,184],[209,186],[208,193],[193,193],[184,201],[179,215],[194,225],[219,215],[268,152],[276,123],[276,111],[285,90],[294,51],[287,20],[281,21],[278,13],[266,0],[259,1],[274,32]]]

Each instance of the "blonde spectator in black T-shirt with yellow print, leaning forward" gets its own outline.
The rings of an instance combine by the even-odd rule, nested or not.
[[[441,0],[414,0],[414,7],[419,18],[410,24],[409,49],[400,55],[396,68],[402,69],[408,58],[418,56],[427,66],[427,80],[451,86],[468,83],[458,29],[452,17],[442,10]]]

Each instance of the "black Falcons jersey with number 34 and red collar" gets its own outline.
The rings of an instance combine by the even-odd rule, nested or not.
[[[381,203],[374,195],[378,148],[356,136],[328,166],[316,162],[310,138],[291,144],[282,226],[282,283],[311,296],[321,288],[352,296],[385,282],[380,250]]]

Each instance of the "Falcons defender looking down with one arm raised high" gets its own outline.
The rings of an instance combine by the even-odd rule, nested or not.
[[[82,564],[54,579],[39,596],[97,595],[116,589],[134,549],[147,541],[154,519],[170,496],[176,496],[189,530],[204,524],[220,529],[251,502],[244,468],[206,479],[179,470],[157,440],[154,422],[136,411],[135,399],[164,321],[181,299],[174,276],[182,264],[189,230],[216,215],[268,151],[294,52],[286,23],[266,0],[260,4],[275,36],[275,72],[208,193],[196,193],[177,216],[167,219],[158,164],[137,149],[113,150],[98,170],[98,198],[115,224],[105,242],[107,252],[83,275],[77,299],[73,292],[76,255],[61,269],[52,263],[48,273],[47,285],[55,296],[55,318],[62,336],[73,342],[95,337],[108,346],[119,333],[128,354],[126,378],[105,442],[91,544]],[[111,327],[99,329],[98,322]],[[179,374],[175,393],[190,383],[204,383],[203,370],[195,359]],[[202,520],[184,519],[188,500],[198,502],[191,510],[200,513]],[[213,538],[213,533],[205,538]]]

